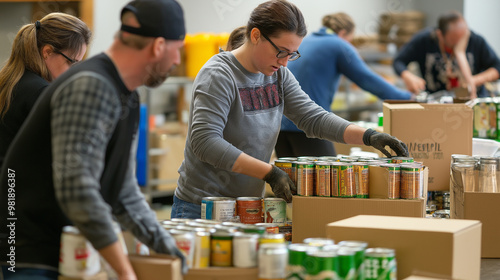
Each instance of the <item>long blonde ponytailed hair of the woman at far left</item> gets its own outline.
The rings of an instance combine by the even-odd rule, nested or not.
[[[10,57],[0,70],[1,118],[9,110],[12,90],[25,70],[52,81],[52,75],[43,59],[43,47],[49,45],[54,50],[66,51],[69,56],[75,56],[80,53],[84,44],[89,44],[91,34],[83,21],[64,13],[51,13],[39,22],[21,27],[14,38]]]

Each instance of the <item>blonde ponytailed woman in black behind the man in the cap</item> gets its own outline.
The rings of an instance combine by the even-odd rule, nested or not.
[[[21,27],[0,70],[0,166],[42,91],[82,60],[90,37],[83,21],[64,13]]]

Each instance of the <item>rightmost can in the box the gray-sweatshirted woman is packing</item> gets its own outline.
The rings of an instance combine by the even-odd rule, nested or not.
[[[418,164],[401,165],[401,186],[399,196],[403,199],[419,199],[423,197],[423,168]]]

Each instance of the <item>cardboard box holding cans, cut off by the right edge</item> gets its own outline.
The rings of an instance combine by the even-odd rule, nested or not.
[[[463,199],[455,195],[450,214],[452,219],[481,221],[481,257],[500,258],[500,193],[465,192]]]

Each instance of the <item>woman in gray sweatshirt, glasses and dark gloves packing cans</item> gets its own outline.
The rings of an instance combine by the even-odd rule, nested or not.
[[[253,10],[245,43],[215,55],[200,70],[172,217],[199,218],[207,196],[262,196],[264,181],[290,202],[295,186],[268,163],[283,113],[310,137],[379,149],[389,145],[399,155],[407,154],[396,138],[352,125],[302,91],[285,66],[300,59],[305,35],[304,18],[295,5],[268,1]]]

